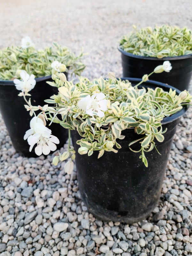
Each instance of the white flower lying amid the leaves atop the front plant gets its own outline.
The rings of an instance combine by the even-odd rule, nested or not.
[[[102,92],[95,93],[92,96],[87,95],[83,99],[79,100],[78,107],[83,109],[90,116],[96,115],[103,117],[105,114],[102,111],[107,110],[107,100],[104,98],[105,94]]]

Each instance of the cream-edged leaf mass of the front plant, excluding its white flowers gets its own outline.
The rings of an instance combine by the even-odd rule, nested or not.
[[[58,86],[56,81],[55,86],[59,87],[61,84]],[[54,109],[57,115],[53,118],[49,113],[50,120],[64,128],[77,130],[82,137],[77,144],[83,149],[87,148],[89,156],[95,150],[99,151],[98,158],[105,151],[117,153],[117,149],[121,148],[117,141],[125,137],[122,131],[134,127],[135,132],[142,136],[129,146],[131,149],[132,144],[140,143],[140,150],[137,152],[141,152],[140,158],[146,166],[148,163],[144,152],[156,148],[155,140],[164,140],[163,134],[166,131],[162,129],[163,118],[180,111],[182,105],[188,104],[192,99],[186,91],[176,95],[176,91],[172,89],[169,92],[158,87],[155,90],[144,87],[139,89],[137,86],[132,87],[128,80],[105,80],[102,77],[93,81],[80,77],[77,84],[66,81],[59,90],[58,95],[46,100],[47,103],[56,104]],[[89,116],[78,107],[78,102],[83,97],[100,92],[108,100],[104,117]]]

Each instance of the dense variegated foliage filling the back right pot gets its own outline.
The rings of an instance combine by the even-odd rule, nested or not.
[[[192,31],[176,26],[163,25],[141,28],[122,36],[120,48],[125,52],[149,57],[173,57],[192,53]]]

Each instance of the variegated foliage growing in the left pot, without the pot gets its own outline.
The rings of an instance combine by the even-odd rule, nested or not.
[[[23,43],[23,40],[27,42]],[[51,64],[59,61],[72,73],[80,75],[85,65],[81,62],[83,52],[76,56],[69,48],[53,43],[52,47],[36,50],[29,37],[22,39],[22,45],[0,49],[0,80],[20,78],[20,71],[43,77],[52,75]]]

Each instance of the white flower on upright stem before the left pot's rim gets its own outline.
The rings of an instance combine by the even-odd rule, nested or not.
[[[35,87],[36,80],[34,75],[29,76],[29,74],[25,70],[21,70],[20,77],[22,80],[13,80],[17,90],[21,90],[22,92],[29,92]]]

